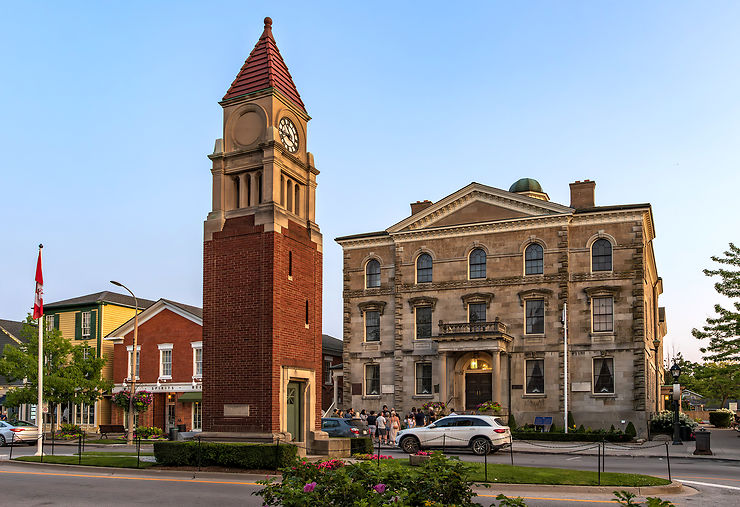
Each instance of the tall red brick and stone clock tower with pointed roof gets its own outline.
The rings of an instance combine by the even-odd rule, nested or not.
[[[220,104],[203,243],[204,431],[311,443],[321,427],[319,171],[270,18]]]

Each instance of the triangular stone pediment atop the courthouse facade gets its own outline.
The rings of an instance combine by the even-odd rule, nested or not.
[[[387,229],[388,232],[572,213],[562,204],[471,183]]]

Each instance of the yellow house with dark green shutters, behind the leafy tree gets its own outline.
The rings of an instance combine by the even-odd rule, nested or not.
[[[138,300],[138,311],[148,308],[154,301]],[[107,357],[103,377],[113,380],[113,344],[102,338],[130,320],[136,313],[134,298],[117,292],[97,292],[64,301],[44,304],[44,325],[59,329],[62,336],[75,344],[87,342],[92,353]],[[47,417],[51,422],[51,416]],[[57,422],[78,424],[87,431],[94,431],[100,424],[110,424],[110,397],[92,405],[58,407]]]

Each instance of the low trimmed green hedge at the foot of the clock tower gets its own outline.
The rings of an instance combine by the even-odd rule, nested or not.
[[[200,460],[199,458],[200,454]],[[155,442],[154,457],[160,465],[222,466],[250,470],[274,470],[292,463],[297,448],[289,444],[242,444],[222,442]]]

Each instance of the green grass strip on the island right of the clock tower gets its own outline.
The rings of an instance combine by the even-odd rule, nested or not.
[[[484,482],[483,463],[467,463],[470,470],[470,479],[475,482]],[[381,466],[402,468],[404,472],[419,470],[409,465],[407,459],[382,460]],[[537,468],[517,467],[510,465],[488,465],[488,482],[509,484],[568,484],[574,486],[597,486],[599,484],[597,472],[584,470],[570,470],[564,468]],[[670,484],[667,479],[640,474],[620,474],[602,472],[602,486],[663,486]]]

